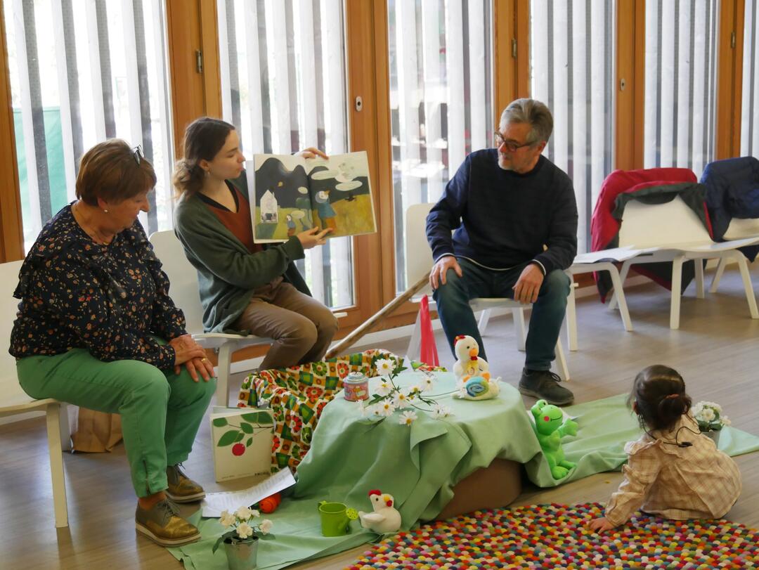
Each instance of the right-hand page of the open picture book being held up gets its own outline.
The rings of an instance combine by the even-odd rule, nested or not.
[[[332,228],[327,237],[376,231],[367,153],[307,159],[313,225]]]

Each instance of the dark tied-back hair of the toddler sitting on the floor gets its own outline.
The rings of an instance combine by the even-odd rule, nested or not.
[[[628,404],[633,401],[644,430],[672,430],[680,416],[691,409],[682,376],[661,364],[644,368],[635,376]]]

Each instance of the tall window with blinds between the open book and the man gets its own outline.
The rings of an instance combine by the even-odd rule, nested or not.
[[[395,277],[404,213],[436,202],[465,156],[493,142],[489,0],[388,0]]]

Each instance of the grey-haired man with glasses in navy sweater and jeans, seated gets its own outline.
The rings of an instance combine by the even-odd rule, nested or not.
[[[427,240],[435,260],[430,285],[451,350],[456,335],[470,335],[487,360],[470,299],[533,304],[519,391],[566,405],[574,395],[550,367],[569,294],[563,270],[577,254],[578,214],[572,180],[541,154],[552,131],[543,103],[517,99],[506,107],[497,148],[467,156],[427,216]]]

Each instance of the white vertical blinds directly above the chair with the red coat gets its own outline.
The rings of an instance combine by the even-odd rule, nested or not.
[[[716,0],[646,2],[645,168],[700,177],[713,159],[718,11]]]

